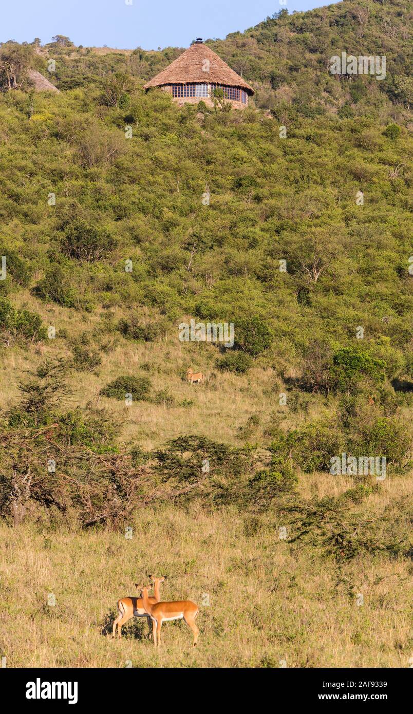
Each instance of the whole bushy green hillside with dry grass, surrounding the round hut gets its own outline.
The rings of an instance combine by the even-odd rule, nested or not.
[[[257,91],[243,112],[144,93],[181,49],[106,52],[63,36],[0,47],[15,69],[13,89],[0,74],[0,515],[22,574],[2,538],[0,588],[11,608],[10,593],[29,598],[20,649],[9,629],[1,643],[19,649],[17,666],[35,645],[41,665],[119,666],[96,630],[122,594],[116,583],[100,582],[110,603],[87,610],[81,655],[67,643],[73,628],[78,645],[83,636],[71,608],[56,615],[54,646],[67,650],[55,658],[38,640],[52,637],[50,615],[24,573],[41,553],[39,592],[63,588],[58,563],[76,534],[70,557],[83,575],[60,599],[70,592],[79,613],[94,587],[88,544],[116,560],[124,528],[141,522],[173,547],[128,550],[117,582],[129,588],[137,562],[168,569],[175,596],[179,583],[219,600],[203,614],[209,654],[195,665],[278,666],[287,655],[296,666],[406,666],[411,12],[401,0],[344,1],[209,40]],[[386,54],[386,79],[333,76],[327,62],[342,50]],[[59,93],[34,92],[30,69]],[[234,346],[180,341],[191,319],[233,323]],[[189,384],[188,368],[205,380]],[[385,457],[386,478],[334,476],[342,453]],[[214,568],[204,546],[211,560],[222,553]],[[354,619],[360,588],[370,614],[356,608]],[[246,653],[241,629],[220,640],[232,623],[219,593],[232,593],[237,623],[244,605],[252,617]],[[302,620],[284,626],[295,598]],[[308,631],[322,601],[317,637],[337,617],[341,635],[317,650]],[[149,649],[142,657],[159,664]]]

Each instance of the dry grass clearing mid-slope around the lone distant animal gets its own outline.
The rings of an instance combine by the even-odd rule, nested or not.
[[[65,340],[59,338],[59,331],[65,330],[69,337],[80,333],[91,334],[101,326],[105,311],[93,314],[79,314],[74,310],[56,305],[46,305],[32,297],[28,291],[21,291],[14,299],[16,308],[26,308],[41,315],[46,326],[56,327],[56,339],[46,340],[37,346],[30,345],[27,351],[18,348],[1,348],[0,393],[2,403],[7,407],[19,398],[17,384],[29,366],[41,363],[46,356],[61,354],[68,356]],[[114,321],[124,318],[120,309],[111,311]],[[78,371],[69,376],[72,403],[80,406],[106,407],[113,413],[114,420],[121,422],[121,441],[139,443],[144,449],[160,446],[170,438],[182,433],[202,433],[204,436],[234,444],[240,441],[266,441],[266,426],[272,426],[274,415],[284,428],[298,426],[303,416],[292,415],[279,406],[279,381],[271,368],[259,366],[249,370],[248,375],[239,376],[221,373],[212,363],[218,356],[217,348],[199,343],[181,343],[176,332],[166,339],[151,343],[135,343],[124,339],[119,333],[113,336],[114,346],[110,351],[101,352],[101,366],[96,373]],[[143,366],[149,366],[149,371]],[[206,374],[206,383],[189,385],[186,370]],[[175,406],[166,408],[148,402],[137,402],[126,407],[123,401],[99,396],[102,386],[114,378],[124,375],[149,376],[153,392],[169,388]],[[192,401],[191,406],[180,406],[184,401]],[[320,411],[319,401],[314,397],[309,416]],[[247,425],[251,416],[258,415],[260,424],[243,435],[239,430]],[[267,438],[267,441],[270,441]]]

